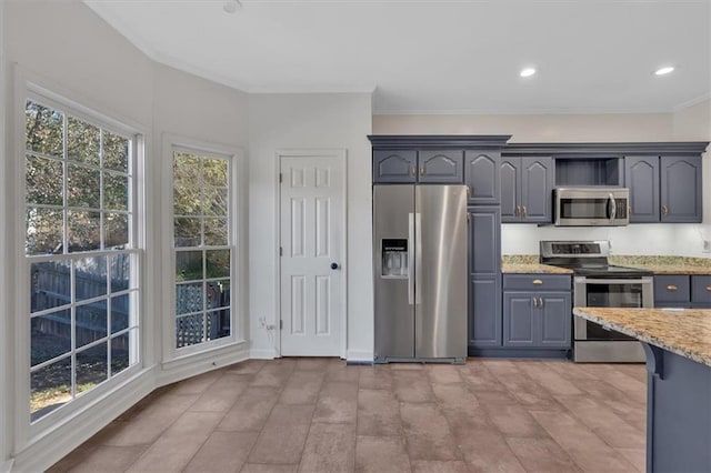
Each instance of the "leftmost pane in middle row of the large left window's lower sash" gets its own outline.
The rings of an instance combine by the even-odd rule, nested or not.
[[[69,309],[34,316],[30,324],[31,366],[71,351],[71,311]]]

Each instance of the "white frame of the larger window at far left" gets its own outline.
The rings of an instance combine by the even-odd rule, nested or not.
[[[9,215],[14,221],[14,233],[12,235],[11,252],[14,256],[17,274],[14,278],[13,293],[18,294],[14,300],[14,336],[17,345],[14,348],[14,451],[21,451],[36,443],[49,432],[61,427],[63,424],[76,417],[80,412],[87,410],[97,402],[107,399],[119,388],[134,379],[146,369],[146,339],[147,323],[144,318],[146,293],[148,292],[143,273],[146,271],[146,191],[143,188],[143,177],[146,175],[146,147],[147,131],[144,127],[132,123],[126,119],[114,119],[102,112],[100,105],[86,99],[74,100],[73,94],[54,88],[44,85],[42,79],[31,77],[26,71],[17,70],[14,74],[16,87],[13,93],[13,109],[16,120],[12,123],[14,155],[10,164],[11,174],[14,177],[16,187],[12,189],[12,200],[17,213]],[[53,90],[61,90],[60,93]],[[30,422],[30,260],[26,255],[26,128],[24,113],[27,100],[37,100],[39,103],[61,110],[80,120],[99,125],[107,131],[119,135],[131,137],[132,149],[129,163],[130,188],[128,211],[132,214],[132,222],[129,224],[129,253],[131,256],[131,281],[136,281],[138,295],[133,298],[132,310],[136,310],[137,329],[136,354],[137,362],[103,381],[96,388],[82,393],[71,402],[56,409],[41,419]],[[84,105],[88,103],[89,105]],[[9,220],[10,220],[9,219]],[[61,255],[62,258],[91,258],[110,253],[110,251],[97,250],[96,252],[77,252]],[[39,261],[39,260],[38,260]],[[107,336],[111,336],[108,334]]]

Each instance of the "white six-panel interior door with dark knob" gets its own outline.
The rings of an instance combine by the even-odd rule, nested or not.
[[[344,155],[281,155],[281,354],[339,356],[346,294]]]

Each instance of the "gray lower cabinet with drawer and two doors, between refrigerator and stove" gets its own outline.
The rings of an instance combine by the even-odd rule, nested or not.
[[[529,283],[532,286],[565,290],[525,290]],[[570,349],[572,330],[570,276],[504,274],[502,321],[504,348]]]

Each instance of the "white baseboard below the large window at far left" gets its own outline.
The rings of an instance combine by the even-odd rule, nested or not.
[[[156,389],[152,374],[152,370],[139,373],[94,404],[78,412],[66,423],[19,452],[10,460],[9,467],[13,472],[40,472],[49,469],[150,394]]]

